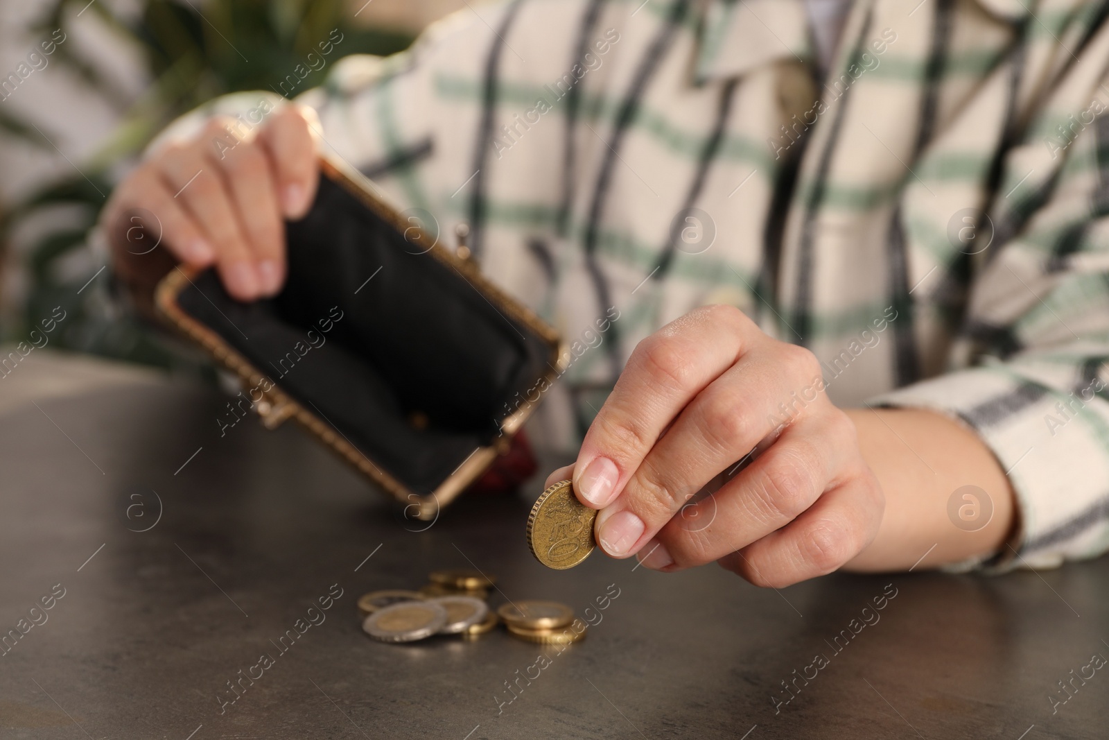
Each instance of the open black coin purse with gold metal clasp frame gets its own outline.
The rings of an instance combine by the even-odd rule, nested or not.
[[[508,449],[532,409],[525,399],[558,373],[559,337],[464,246],[321,162],[312,210],[286,224],[279,295],[238,303],[213,270],[182,266],[155,303],[241,378],[240,403],[266,427],[296,419],[406,516],[433,519]]]

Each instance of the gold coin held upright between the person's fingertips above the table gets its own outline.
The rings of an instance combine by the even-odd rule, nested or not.
[[[578,500],[569,480],[556,483],[531,507],[528,547],[548,568],[572,568],[597,547],[593,540],[596,518],[597,509]]]

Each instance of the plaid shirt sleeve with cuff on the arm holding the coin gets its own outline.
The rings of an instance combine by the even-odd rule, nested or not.
[[[994,242],[970,257],[977,277],[952,349],[964,368],[871,402],[959,420],[1006,472],[1018,530],[956,568],[1050,568],[1109,549],[1109,116],[1072,121],[1034,119],[1007,156],[1009,195],[979,224]],[[1049,174],[1014,192],[1030,162]]]

